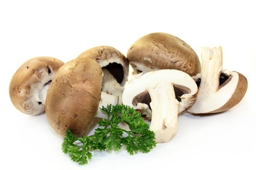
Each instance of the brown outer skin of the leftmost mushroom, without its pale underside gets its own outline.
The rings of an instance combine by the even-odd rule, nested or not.
[[[22,113],[33,114],[31,105],[24,102],[32,97],[31,85],[41,81],[42,70],[51,74],[56,72],[63,64],[62,61],[54,57],[35,57],[23,63],[13,75],[9,85],[9,95],[13,105]],[[40,113],[43,112],[44,106],[40,110]]]

